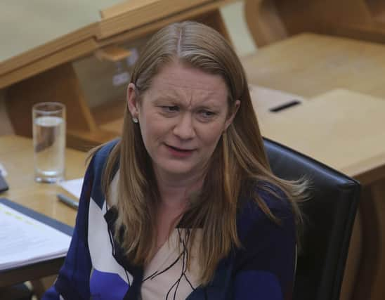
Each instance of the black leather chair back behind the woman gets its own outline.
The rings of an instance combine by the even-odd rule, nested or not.
[[[311,181],[310,200],[301,204],[306,225],[293,299],[338,300],[360,183],[267,138],[264,144],[276,176]]]

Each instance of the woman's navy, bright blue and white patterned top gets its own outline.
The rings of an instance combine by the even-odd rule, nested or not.
[[[115,143],[101,148],[91,159],[70,249],[44,300],[141,299],[145,272],[126,259],[113,238],[117,211],[107,207],[100,185],[105,160]],[[282,195],[278,188],[274,190]],[[292,300],[296,261],[292,210],[285,198],[278,199],[258,186],[256,193],[280,219],[280,224],[268,219],[255,200],[241,197],[237,233],[242,247],[218,263],[209,285],[192,285],[186,299]],[[178,298],[175,293],[168,293],[164,299]]]

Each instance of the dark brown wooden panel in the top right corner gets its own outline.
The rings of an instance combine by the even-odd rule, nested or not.
[[[246,0],[247,26],[258,46],[301,32],[367,41],[385,39],[382,0]],[[367,35],[360,28],[365,27]],[[379,38],[381,35],[381,38]]]

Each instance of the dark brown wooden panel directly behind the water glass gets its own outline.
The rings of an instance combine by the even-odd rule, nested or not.
[[[96,123],[71,64],[60,65],[14,84],[6,95],[6,107],[15,133],[32,136],[32,106],[60,102],[67,110],[67,129],[96,131]]]

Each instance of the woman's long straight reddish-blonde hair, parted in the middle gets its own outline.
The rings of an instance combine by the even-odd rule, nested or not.
[[[207,284],[218,261],[226,257],[233,247],[241,246],[236,223],[238,198],[249,183],[270,183],[280,188],[292,205],[297,228],[301,224],[297,200],[303,195],[304,184],[284,181],[270,171],[240,60],[228,42],[210,27],[197,22],[175,23],[159,30],[148,41],[131,77],[139,100],[150,87],[152,78],[164,65],[174,60],[209,74],[219,74],[228,87],[229,107],[233,107],[237,99],[241,102],[233,123],[214,150],[200,195],[191,202],[183,216],[188,227],[192,228],[188,247],[195,238],[194,228],[203,229],[198,258],[200,279]],[[112,149],[105,165],[102,178],[105,195],[108,195],[109,183],[118,162],[119,215],[115,223],[115,238],[122,244],[128,259],[143,266],[156,249],[155,207],[159,193],[139,125],[133,124],[127,109],[124,112],[122,138]],[[270,219],[279,222],[257,194],[250,195],[255,197],[256,203]],[[122,230],[124,237],[119,235]]]

